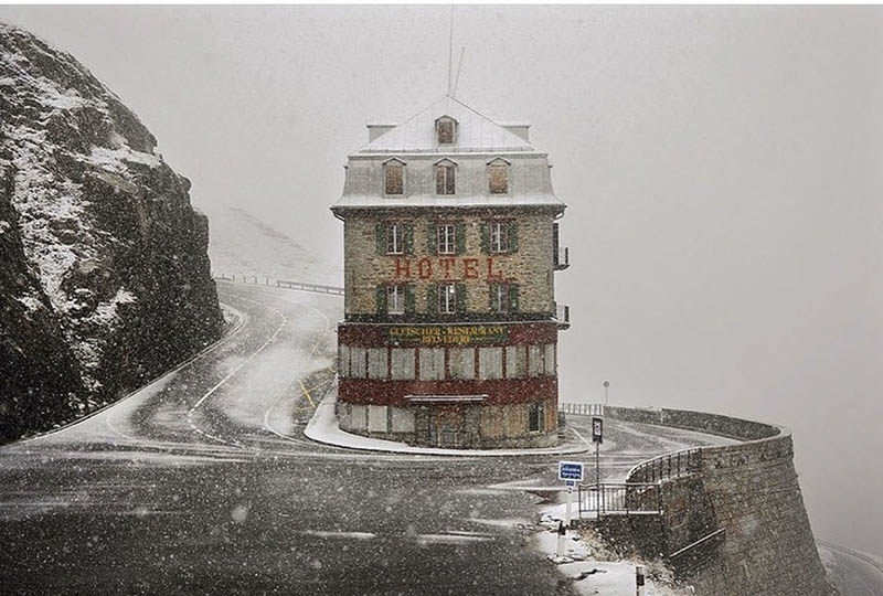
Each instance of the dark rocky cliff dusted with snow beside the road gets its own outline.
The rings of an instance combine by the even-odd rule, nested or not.
[[[0,441],[113,401],[221,336],[189,189],[83,65],[0,23]]]

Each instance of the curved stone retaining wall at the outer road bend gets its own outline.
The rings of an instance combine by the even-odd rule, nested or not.
[[[662,482],[664,536],[657,544],[696,594],[838,594],[819,558],[787,429],[680,409],[607,407],[605,415],[742,441],[699,449],[692,473]],[[636,481],[638,475],[630,472]]]

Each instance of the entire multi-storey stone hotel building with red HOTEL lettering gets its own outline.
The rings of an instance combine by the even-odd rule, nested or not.
[[[454,448],[557,441],[564,204],[528,125],[445,97],[369,126],[341,199],[344,430]]]

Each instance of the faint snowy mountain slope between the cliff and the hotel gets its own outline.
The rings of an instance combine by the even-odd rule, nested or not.
[[[340,267],[238,207],[211,212],[209,258],[214,275],[342,285]]]

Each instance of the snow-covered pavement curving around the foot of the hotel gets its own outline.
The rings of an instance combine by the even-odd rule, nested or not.
[[[434,447],[414,447],[405,443],[385,440],[353,435],[340,429],[338,417],[334,415],[337,393],[329,393],[316,408],[316,413],[307,424],[304,435],[317,443],[325,443],[336,447],[359,449],[366,451],[385,451],[391,454],[419,454],[434,456],[456,457],[503,457],[503,456],[535,456],[535,455],[570,455],[582,454],[588,450],[587,445],[546,447],[541,449],[439,449]]]

